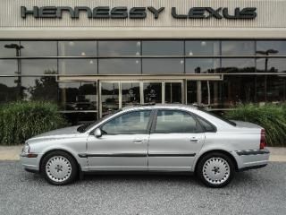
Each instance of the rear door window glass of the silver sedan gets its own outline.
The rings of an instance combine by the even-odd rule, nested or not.
[[[157,112],[155,133],[198,133],[200,126],[193,116],[178,110]]]

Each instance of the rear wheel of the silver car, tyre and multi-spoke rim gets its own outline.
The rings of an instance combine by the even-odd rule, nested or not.
[[[196,174],[206,186],[220,188],[231,182],[234,164],[229,156],[211,152],[198,161]]]

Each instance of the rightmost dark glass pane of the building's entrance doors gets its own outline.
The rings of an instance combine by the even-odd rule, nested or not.
[[[181,82],[164,83],[164,102],[181,103]]]

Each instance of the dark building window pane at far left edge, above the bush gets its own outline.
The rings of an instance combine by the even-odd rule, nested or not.
[[[17,77],[0,77],[0,103],[14,101],[19,98]]]

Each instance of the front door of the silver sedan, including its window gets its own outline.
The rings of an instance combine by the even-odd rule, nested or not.
[[[147,170],[151,110],[131,111],[101,125],[103,135],[88,136],[89,170]]]

